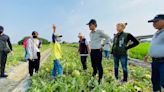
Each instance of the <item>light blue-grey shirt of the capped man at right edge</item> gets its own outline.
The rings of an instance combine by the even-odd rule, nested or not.
[[[164,28],[154,34],[149,55],[154,58],[164,57]]]

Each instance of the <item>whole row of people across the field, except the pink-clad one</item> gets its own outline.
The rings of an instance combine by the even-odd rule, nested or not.
[[[152,58],[152,84],[154,92],[164,92],[164,14],[159,14],[155,16],[154,19],[148,22],[153,22],[153,26],[157,29],[154,34],[151,46],[149,49],[149,55]],[[79,33],[79,48],[81,63],[83,70],[87,70],[87,56],[90,54],[91,64],[93,68],[92,76],[96,76],[98,73],[98,82],[101,83],[103,78],[103,66],[102,57],[103,53],[106,58],[109,59],[109,54],[113,56],[114,59],[114,74],[115,78],[118,80],[119,76],[119,62],[123,69],[123,79],[122,82],[128,81],[128,54],[127,51],[139,44],[139,41],[130,33],[124,32],[127,23],[118,23],[116,25],[117,33],[114,35],[112,49],[110,51],[110,37],[105,34],[102,30],[97,29],[97,22],[95,19],[91,19],[89,23],[90,32],[90,42],[84,37],[82,33]],[[7,54],[12,51],[12,45],[10,38],[3,33],[4,28],[0,26],[0,77],[7,77],[5,75],[5,64],[7,60]],[[63,69],[60,63],[62,58],[62,50],[60,46],[60,41],[62,35],[56,34],[56,25],[53,25],[52,34],[52,52],[51,55],[54,57],[54,67],[52,69],[52,76],[56,78],[62,76]],[[103,43],[102,43],[103,40]],[[8,44],[8,45],[7,45]],[[38,39],[38,33],[36,31],[32,32],[32,37],[26,40],[25,50],[26,56],[25,60],[29,61],[29,74],[33,75],[33,72],[37,73],[40,65],[40,49],[41,41]],[[147,59],[148,56],[145,58]]]

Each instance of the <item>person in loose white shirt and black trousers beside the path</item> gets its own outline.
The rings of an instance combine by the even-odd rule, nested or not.
[[[40,47],[41,43],[38,39],[38,32],[33,31],[32,37],[27,41],[27,53],[29,61],[29,74],[33,76],[33,72],[38,73],[40,67]]]

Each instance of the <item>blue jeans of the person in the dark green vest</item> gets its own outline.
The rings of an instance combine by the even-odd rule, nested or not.
[[[128,56],[119,56],[119,55],[113,55],[114,56],[114,70],[115,70],[115,77],[118,79],[118,71],[119,71],[119,61],[121,61],[122,69],[123,69],[123,81],[128,80]]]

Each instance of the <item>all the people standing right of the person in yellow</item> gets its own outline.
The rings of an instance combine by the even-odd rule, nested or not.
[[[150,56],[152,58],[152,84],[153,92],[164,92],[164,14],[159,14],[154,19],[148,21],[153,22],[153,26],[157,29],[154,34],[151,46],[149,49],[149,55],[145,56],[145,60]],[[93,68],[94,77],[97,72],[99,74],[98,82],[101,82],[103,77],[102,67],[102,53],[106,58],[109,58],[109,52],[114,59],[114,74],[118,80],[119,76],[119,62],[123,69],[122,82],[128,81],[128,53],[127,51],[137,45],[139,41],[130,33],[124,32],[127,23],[118,23],[116,25],[117,33],[114,35],[112,49],[110,51],[110,37],[105,34],[102,30],[97,29],[96,20],[92,19],[87,24],[89,25],[90,32],[90,43],[87,42],[86,38],[82,33],[79,33],[79,53],[81,56],[81,63],[83,69],[87,69],[87,56],[90,54],[91,63]],[[102,39],[105,40],[102,44]],[[147,60],[146,60],[147,61]]]

